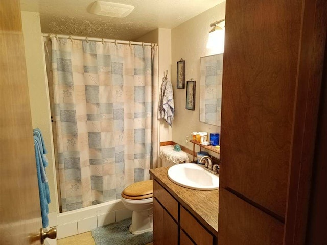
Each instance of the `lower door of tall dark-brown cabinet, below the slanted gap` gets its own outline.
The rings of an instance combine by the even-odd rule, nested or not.
[[[224,188],[219,194],[219,244],[283,244],[283,223]]]

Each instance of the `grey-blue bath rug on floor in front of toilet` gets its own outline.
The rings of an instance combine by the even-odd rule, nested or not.
[[[127,218],[106,226],[97,227],[92,230],[92,237],[96,245],[146,245],[153,240],[153,232],[145,232],[133,235],[128,227],[132,219]]]

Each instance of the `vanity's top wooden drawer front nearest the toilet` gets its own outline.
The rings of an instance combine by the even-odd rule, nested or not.
[[[153,181],[153,196],[178,222],[178,202],[157,181]]]

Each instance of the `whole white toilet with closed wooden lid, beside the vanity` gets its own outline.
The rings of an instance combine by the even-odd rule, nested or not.
[[[152,180],[136,182],[122,192],[121,200],[132,213],[129,232],[138,235],[153,231],[153,183]]]

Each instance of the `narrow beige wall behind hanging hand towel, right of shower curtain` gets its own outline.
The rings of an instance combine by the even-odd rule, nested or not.
[[[168,79],[171,81],[171,29],[158,28],[146,35],[135,40],[137,42],[152,42],[158,44],[158,72],[159,72],[159,89],[162,83],[164,72],[168,71]],[[159,141],[172,140],[172,127],[169,126],[164,120],[159,121]]]

